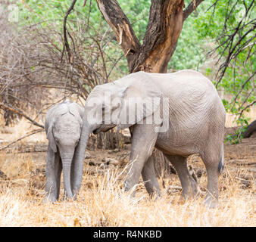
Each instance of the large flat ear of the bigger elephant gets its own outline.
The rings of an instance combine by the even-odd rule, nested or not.
[[[126,129],[143,119],[151,116],[158,110],[161,100],[161,90],[148,73],[133,73],[120,79],[126,82],[120,88],[121,97],[120,116],[117,119],[117,129]],[[120,82],[120,83],[122,83]]]

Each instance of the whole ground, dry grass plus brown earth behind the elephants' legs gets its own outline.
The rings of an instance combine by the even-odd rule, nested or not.
[[[15,129],[20,127],[0,129],[1,138],[14,140]],[[149,199],[142,181],[131,198],[122,189],[129,144],[121,150],[87,150],[77,200],[45,205],[47,141],[42,133],[0,151],[0,226],[255,226],[255,147],[255,134],[241,144],[225,144],[217,209],[203,205],[207,175],[197,155],[189,157],[189,167],[202,191],[198,200],[180,199],[175,174],[158,178],[158,200]],[[61,185],[61,198],[63,194]]]

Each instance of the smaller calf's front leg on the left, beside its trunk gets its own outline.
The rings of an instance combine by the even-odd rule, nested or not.
[[[55,153],[51,147],[47,150],[47,163],[45,169],[46,184],[45,184],[45,203],[52,203],[58,200],[61,184],[61,158],[58,151]]]

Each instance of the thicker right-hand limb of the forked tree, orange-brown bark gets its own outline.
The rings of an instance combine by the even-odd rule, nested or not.
[[[183,28],[183,0],[151,0],[142,50],[133,72],[166,73]]]

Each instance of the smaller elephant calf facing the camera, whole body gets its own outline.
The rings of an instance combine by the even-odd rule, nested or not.
[[[73,154],[83,126],[83,107],[69,100],[55,104],[46,113],[45,132],[48,139],[45,203],[58,200],[63,169],[66,197],[73,197]]]

